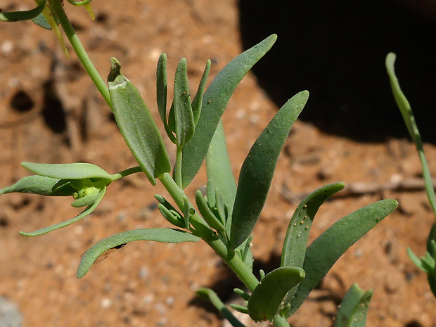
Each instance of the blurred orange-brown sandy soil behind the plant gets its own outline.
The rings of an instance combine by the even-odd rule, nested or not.
[[[27,2],[0,0],[0,8],[32,6]],[[122,6],[117,8],[114,0],[93,1],[96,22],[82,8],[65,8],[101,75],[107,75],[109,58],[116,56],[156,119],[155,64],[160,53],[168,55],[169,84],[179,58],[187,58],[194,89],[207,58],[212,59],[212,80],[243,51],[235,0],[132,0]],[[385,92],[390,92],[388,86]],[[277,109],[255,75],[243,79],[223,118],[236,177],[252,142]],[[27,175],[22,161],[92,162],[111,173],[135,165],[108,106],[75,55],[67,60],[50,32],[28,22],[0,25],[0,149],[0,186]],[[436,148],[425,143],[425,151],[436,175]],[[420,176],[409,139],[359,143],[297,122],[254,231],[257,267],[276,267],[297,205],[286,200],[284,187],[297,198],[334,181],[380,186]],[[188,195],[204,184],[202,171]],[[108,188],[91,216],[38,238],[24,238],[18,231],[75,216],[78,210],[70,207],[71,199],[25,194],[0,198],[0,295],[18,305],[23,326],[222,325],[220,316],[196,299],[195,290],[214,287],[228,298],[238,284],[204,243],[129,243],[84,278],[75,277],[80,255],[101,238],[127,229],[168,226],[155,209],[154,193],[165,191],[150,186],[145,177],[128,177]],[[408,246],[423,254],[434,219],[422,189],[335,198],[319,210],[311,241],[338,218],[382,198],[397,198],[400,210],[342,256],[290,318],[292,326],[332,326],[337,304],[354,282],[374,290],[367,326],[436,326],[436,300],[426,276],[406,255]]]

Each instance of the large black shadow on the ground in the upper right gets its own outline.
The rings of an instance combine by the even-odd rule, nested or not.
[[[393,51],[423,141],[436,142],[436,20],[387,0],[239,0],[239,9],[245,49],[278,34],[254,72],[279,107],[307,89],[301,119],[323,132],[409,137],[385,70]]]

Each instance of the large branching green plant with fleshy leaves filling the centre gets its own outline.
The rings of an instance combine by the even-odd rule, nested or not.
[[[44,15],[47,10],[45,1],[40,0],[38,4],[31,11],[32,14],[2,13],[1,18],[8,21],[38,18],[36,23],[44,27],[48,27],[44,22],[53,19],[54,25],[49,24],[53,30],[57,28],[57,23],[60,24],[113,111],[120,132],[139,166],[109,174],[88,163],[49,165],[23,162],[23,167],[34,175],[3,188],[0,195],[11,192],[72,195],[75,199],[72,206],[85,209],[66,222],[21,234],[37,236],[77,222],[96,208],[113,181],[141,172],[146,174],[150,184],[155,185],[159,181],[166,188],[172,203],[163,195],[155,195],[158,208],[168,222],[178,227],[124,231],[99,241],[84,253],[77,269],[78,278],[84,276],[104,252],[128,242],[181,243],[203,240],[229,265],[248,290],[236,290],[247,301],[247,305],[231,307],[249,314],[255,321],[269,320],[274,326],[289,326],[286,319],[301,306],[338,258],[397,207],[395,200],[382,200],[362,207],[342,217],[307,248],[316,212],[344,184],[335,183],[319,188],[300,203],[290,219],[283,243],[281,267],[268,274],[261,271],[259,280],[252,268],[252,229],[264,207],[283,143],[304,108],[309,93],[302,91],[296,94],[278,110],[245,158],[238,183],[231,171],[221,117],[238,83],[269,51],[276,41],[276,35],[271,35],[231,60],[205,89],[210,70],[210,61],[207,61],[198,91],[192,99],[188,91],[186,59],[182,58],[175,72],[174,98],[168,113],[167,57],[165,53],[160,56],[156,72],[157,105],[167,137],[177,148],[176,162],[172,167],[158,127],[139,91],[122,75],[120,62],[112,58],[106,86],[86,56],[61,1],[49,0],[50,17]],[[89,1],[80,4],[89,5]],[[195,192],[195,208],[184,190],[204,160],[207,166],[207,196],[200,191]],[[233,326],[242,325],[211,290],[202,289],[198,294],[209,298]],[[364,295],[357,286],[353,286],[338,314],[337,326],[363,326],[366,304],[370,298],[371,292]],[[361,308],[362,304],[364,309]]]

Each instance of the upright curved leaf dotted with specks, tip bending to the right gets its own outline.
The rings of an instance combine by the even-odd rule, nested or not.
[[[283,251],[281,252],[281,266],[303,267],[306,255],[307,238],[312,222],[319,207],[331,197],[342,190],[344,183],[335,183],[323,186],[307,195],[298,205],[290,219]]]

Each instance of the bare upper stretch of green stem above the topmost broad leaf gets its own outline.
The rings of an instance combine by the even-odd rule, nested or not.
[[[86,53],[84,47],[82,46],[82,43],[80,43],[79,37],[77,37],[77,34],[70,23],[70,20],[68,20],[68,17],[63,10],[61,1],[49,0],[49,3],[51,12],[53,13],[53,15],[56,15],[56,18],[58,18],[60,25],[65,32],[65,35],[70,41],[72,49],[74,49],[84,69],[88,73],[89,77],[91,77],[92,82],[94,82],[94,84],[97,86],[98,91],[100,91],[106,103],[111,106],[108,86],[106,86],[103,78],[101,78],[100,74],[98,74],[98,71],[94,67],[94,64],[91,62],[91,59],[89,59],[89,56]]]

